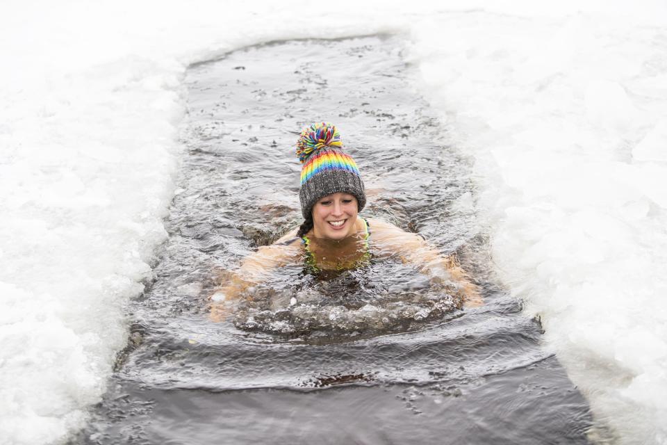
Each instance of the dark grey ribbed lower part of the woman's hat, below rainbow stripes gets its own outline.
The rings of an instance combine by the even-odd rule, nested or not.
[[[302,184],[299,191],[304,218],[308,218],[318,200],[333,193],[354,195],[359,211],[366,205],[365,188],[359,175],[347,170],[323,170]]]

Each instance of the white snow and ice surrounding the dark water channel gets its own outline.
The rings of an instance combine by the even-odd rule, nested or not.
[[[63,442],[104,393],[166,236],[188,64],[369,33],[406,38],[499,276],[596,419],[667,444],[664,4],[236,3],[0,6],[0,444]]]

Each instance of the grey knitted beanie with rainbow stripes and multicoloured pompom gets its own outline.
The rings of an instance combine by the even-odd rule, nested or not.
[[[334,125],[315,122],[304,128],[297,142],[297,156],[303,164],[299,200],[304,218],[320,198],[338,192],[354,195],[359,211],[363,209],[366,194],[359,168],[352,156],[343,152]]]

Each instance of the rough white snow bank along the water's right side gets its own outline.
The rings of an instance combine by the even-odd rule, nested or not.
[[[624,444],[667,443],[667,31],[654,23],[450,13],[413,51],[475,158],[502,280]]]

